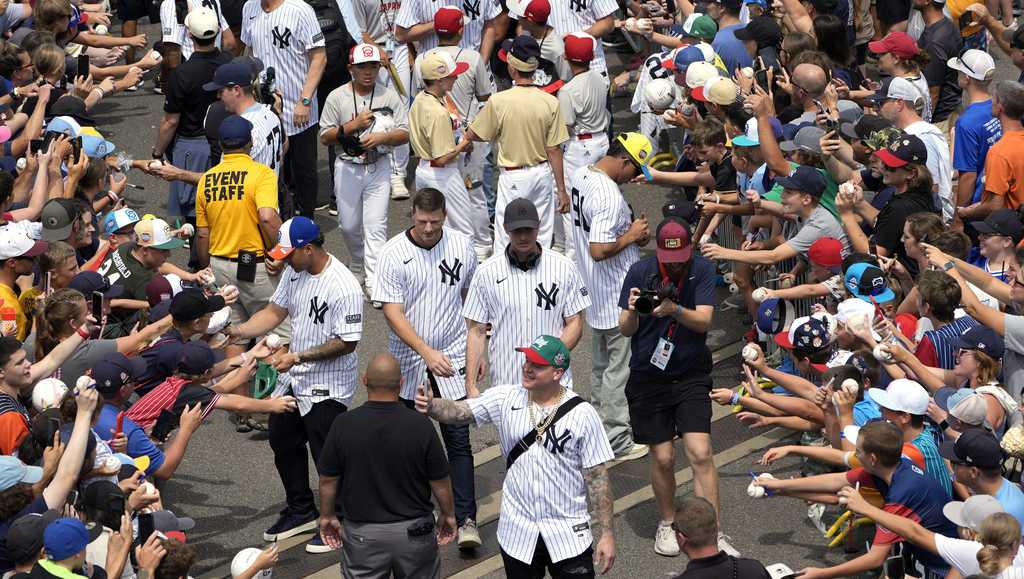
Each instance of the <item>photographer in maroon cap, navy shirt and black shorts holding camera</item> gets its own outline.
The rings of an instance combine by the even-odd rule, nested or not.
[[[712,356],[705,343],[715,302],[715,265],[693,255],[685,223],[666,218],[657,226],[657,255],[630,267],[618,298],[618,330],[631,338],[630,423],[633,440],[650,446],[660,515],[654,552],[666,556],[679,554],[672,531],[677,433],[693,467],[694,493],[719,510],[711,448]],[[718,544],[739,554],[721,533]]]

